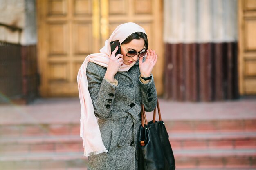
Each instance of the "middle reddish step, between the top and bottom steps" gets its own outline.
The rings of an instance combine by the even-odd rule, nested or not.
[[[169,133],[174,150],[255,149],[256,132]],[[81,152],[79,135],[0,137],[0,153]]]

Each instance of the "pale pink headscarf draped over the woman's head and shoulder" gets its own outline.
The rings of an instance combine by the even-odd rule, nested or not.
[[[129,35],[135,32],[146,33],[141,26],[132,22],[117,26],[110,35],[110,38],[105,41],[105,46],[100,49],[100,53],[88,55],[78,71],[77,83],[81,104],[80,137],[83,139],[84,156],[108,152],[102,142],[99,125],[94,115],[92,99],[88,91],[88,82],[86,77],[87,64],[88,62],[94,62],[100,66],[108,67],[111,55],[110,42],[119,40],[121,44]],[[119,71],[128,71],[134,64],[135,62],[130,65],[123,64],[119,68]]]

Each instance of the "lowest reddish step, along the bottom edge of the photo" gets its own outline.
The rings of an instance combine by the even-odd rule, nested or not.
[[[201,154],[200,150],[194,150],[193,155],[175,154],[176,169],[219,169],[219,170],[241,170],[256,168],[256,154],[248,154],[248,150],[240,150],[239,155],[234,155],[231,152],[222,152],[219,150],[216,155],[216,150],[212,150],[212,154]],[[87,167],[87,157],[83,156],[82,152],[64,152],[64,153],[30,153],[30,154],[7,154],[0,155],[0,167],[3,170],[66,170],[75,168]]]

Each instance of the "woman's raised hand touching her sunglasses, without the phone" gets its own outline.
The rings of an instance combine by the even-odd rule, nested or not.
[[[155,50],[148,50],[146,60],[143,62],[143,57],[139,58],[139,69],[141,77],[149,77],[153,67],[157,62],[157,54]]]

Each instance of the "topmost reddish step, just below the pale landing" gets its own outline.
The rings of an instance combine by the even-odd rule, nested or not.
[[[256,119],[251,120],[179,120],[164,121],[168,132],[255,132]],[[0,136],[74,135],[80,124],[4,124]]]

